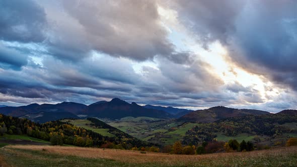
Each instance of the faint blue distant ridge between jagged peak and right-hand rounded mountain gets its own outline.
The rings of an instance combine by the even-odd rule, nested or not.
[[[153,106],[153,105],[145,105],[142,107],[147,108],[147,109],[156,109],[156,110],[165,111],[169,114],[174,115],[176,118],[179,118],[183,115],[186,115],[186,114],[194,111],[194,110],[179,109],[179,108],[174,108],[174,107],[162,107],[162,106]]]

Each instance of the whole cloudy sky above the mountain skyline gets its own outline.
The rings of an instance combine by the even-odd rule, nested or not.
[[[297,109],[297,1],[0,1],[0,105]]]

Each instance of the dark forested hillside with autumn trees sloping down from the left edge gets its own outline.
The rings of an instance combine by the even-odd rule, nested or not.
[[[73,126],[69,123],[52,121],[43,124],[28,119],[11,117],[0,114],[0,135],[26,134],[35,138],[51,141],[52,144],[70,144],[77,146],[97,146],[108,148],[130,149],[134,146],[152,146],[153,144],[141,141],[97,119],[91,118],[94,126],[108,126],[115,137],[103,136],[91,130]]]

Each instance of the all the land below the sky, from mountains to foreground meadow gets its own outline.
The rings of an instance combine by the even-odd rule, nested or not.
[[[220,166],[228,165],[230,160],[232,166],[255,164],[247,162],[249,160],[267,164],[259,157],[263,154],[267,159],[280,159],[289,165],[296,161],[296,152],[292,149],[297,145],[296,110],[271,114],[217,106],[190,111],[139,106],[115,98],[89,106],[70,102],[31,104],[2,107],[0,112],[7,114],[0,114],[0,146],[5,157],[0,160],[9,165],[19,166],[21,161],[27,161],[27,156],[59,161],[61,155],[64,159],[60,159],[59,166],[73,161],[76,162],[73,166],[82,163],[89,166],[93,166],[92,163],[96,166],[98,163],[103,166]],[[154,117],[156,114],[160,115]],[[95,155],[94,151],[104,155]],[[246,161],[238,159],[252,155],[250,151],[256,156]],[[288,151],[285,156],[291,159],[284,158],[282,151]],[[118,153],[126,154],[124,160],[118,158],[121,157]],[[14,155],[16,160],[12,161],[7,154]],[[220,163],[210,161],[214,157]],[[144,160],[150,158],[150,162]],[[40,165],[38,161],[26,163]],[[279,163],[269,161],[268,164]]]

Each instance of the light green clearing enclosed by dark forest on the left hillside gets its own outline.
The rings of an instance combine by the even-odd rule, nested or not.
[[[96,128],[96,127],[91,126],[90,124],[92,122],[89,121],[89,120],[85,120],[85,119],[68,120],[68,119],[64,119],[62,121],[63,122],[69,122],[70,124],[73,124],[73,125],[78,126],[78,127],[82,127],[82,128],[85,128],[85,129],[92,130],[93,132],[99,133],[99,134],[101,134],[103,136],[110,136],[110,137],[114,136],[113,134],[110,134],[108,132],[109,129]],[[86,125],[86,124],[88,124],[88,125]]]

